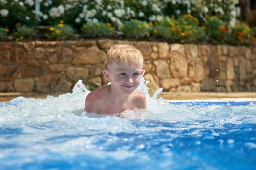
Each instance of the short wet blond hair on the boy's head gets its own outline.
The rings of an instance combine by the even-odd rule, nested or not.
[[[113,62],[126,66],[143,63],[141,51],[130,44],[115,44],[107,52],[107,69]]]

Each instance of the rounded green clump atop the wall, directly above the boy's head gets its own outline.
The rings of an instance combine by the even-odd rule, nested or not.
[[[149,33],[149,25],[145,21],[131,20],[120,25],[121,32],[128,38],[142,38]]]

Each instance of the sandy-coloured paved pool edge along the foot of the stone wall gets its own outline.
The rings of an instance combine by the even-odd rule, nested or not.
[[[47,95],[58,96],[63,93],[0,93],[0,102],[8,102],[18,96],[26,98],[41,98],[44,99]],[[162,92],[159,97],[165,100],[192,100],[192,99],[216,99],[216,98],[256,98],[256,92],[237,92],[237,93],[217,93],[217,92],[200,92],[200,93],[172,93]]]

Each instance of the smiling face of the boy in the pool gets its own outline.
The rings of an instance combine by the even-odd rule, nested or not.
[[[108,73],[111,88],[120,93],[130,95],[140,85],[143,62],[126,66],[125,64],[112,63]]]

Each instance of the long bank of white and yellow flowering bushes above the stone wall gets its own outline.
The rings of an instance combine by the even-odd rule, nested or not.
[[[20,24],[35,29],[50,27],[44,37],[50,40],[77,33],[85,37],[153,36],[180,43],[248,44],[255,40],[255,34],[237,34],[242,30],[236,26],[240,15],[237,4],[238,0],[0,0],[0,27],[9,30],[1,29],[0,35],[3,40],[17,38],[13,33],[21,32],[16,26]],[[60,25],[60,20],[65,24]]]

